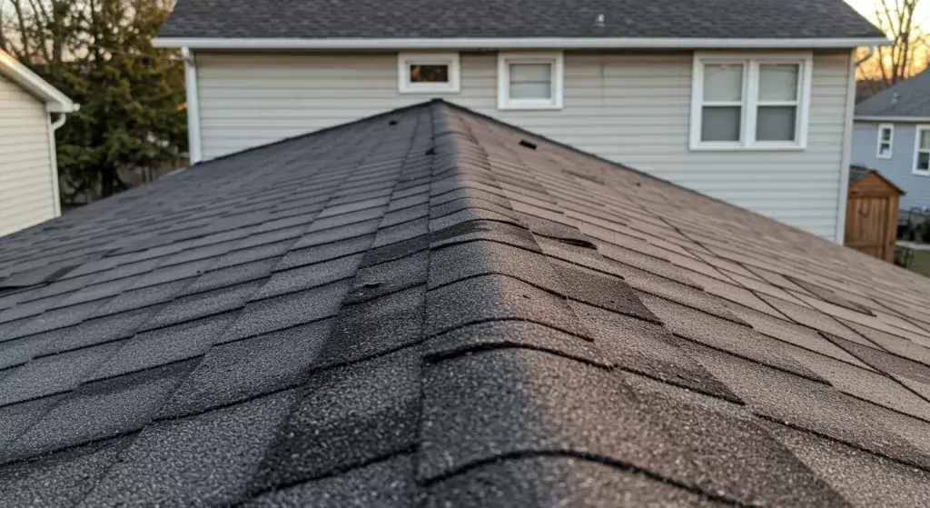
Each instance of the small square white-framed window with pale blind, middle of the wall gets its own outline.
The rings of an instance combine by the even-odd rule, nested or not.
[[[561,53],[498,55],[498,109],[562,108]]]

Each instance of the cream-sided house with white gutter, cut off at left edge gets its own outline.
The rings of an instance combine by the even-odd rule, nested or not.
[[[0,236],[61,214],[55,129],[77,107],[0,49]]]

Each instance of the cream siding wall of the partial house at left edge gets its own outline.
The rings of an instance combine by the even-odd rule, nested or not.
[[[0,235],[56,216],[49,128],[45,103],[0,75]]]

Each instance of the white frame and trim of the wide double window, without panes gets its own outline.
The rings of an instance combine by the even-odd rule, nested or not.
[[[701,114],[704,99],[704,65],[706,64],[742,64],[743,65],[743,108],[740,118],[738,141],[702,141]],[[759,66],[767,63],[796,63],[800,65],[798,81],[798,114],[794,141],[757,141],[755,140],[756,114],[760,101]],[[692,151],[800,151],[807,148],[807,127],[810,119],[810,96],[814,58],[809,52],[793,53],[718,53],[695,52],[694,72],[691,85],[691,135]],[[771,105],[768,101],[764,105]],[[772,103],[774,104],[774,103]]]

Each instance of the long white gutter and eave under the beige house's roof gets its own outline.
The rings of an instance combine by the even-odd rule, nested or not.
[[[812,49],[888,46],[883,37],[807,39],[528,37],[528,38],[210,38],[158,37],[154,47],[191,49]]]

